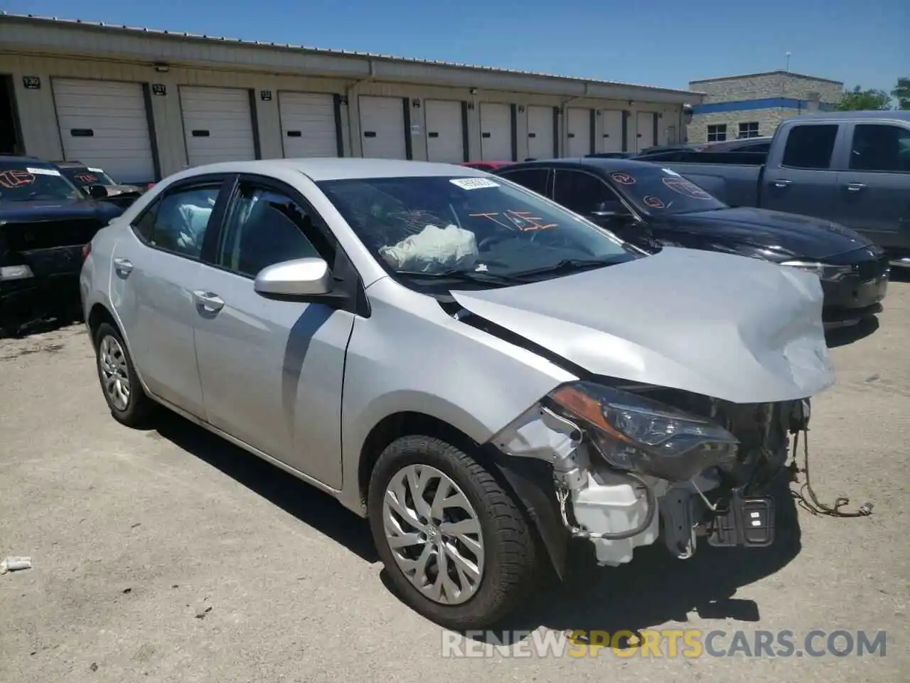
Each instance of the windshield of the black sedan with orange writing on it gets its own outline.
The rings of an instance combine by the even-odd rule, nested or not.
[[[720,199],[669,168],[649,164],[608,174],[623,198],[652,216],[726,209]]]

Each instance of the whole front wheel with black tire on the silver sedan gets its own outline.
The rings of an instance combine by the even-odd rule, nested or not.
[[[399,438],[369,482],[369,525],[404,602],[442,627],[490,627],[526,595],[536,545],[480,463],[429,436]]]

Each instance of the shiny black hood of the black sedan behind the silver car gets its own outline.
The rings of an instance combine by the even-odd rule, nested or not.
[[[858,232],[830,220],[782,211],[740,207],[676,214],[662,218],[687,232],[715,237],[720,244],[736,242],[767,249],[784,256],[824,259],[868,247],[872,242]],[[704,248],[709,249],[706,240]]]

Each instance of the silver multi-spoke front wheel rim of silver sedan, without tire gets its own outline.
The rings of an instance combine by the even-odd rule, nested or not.
[[[386,541],[401,572],[442,605],[466,602],[483,576],[480,519],[458,484],[440,470],[410,464],[382,501]]]

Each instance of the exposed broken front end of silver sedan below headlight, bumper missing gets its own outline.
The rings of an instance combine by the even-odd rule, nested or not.
[[[714,546],[773,544],[771,492],[788,472],[789,434],[807,426],[808,400],[735,404],[667,393],[675,394],[681,408],[710,406],[712,419],[741,444],[733,462],[686,481],[623,471],[606,461],[583,423],[546,402],[492,440],[507,457],[549,464],[550,494],[565,536],[587,539],[599,565],[628,563],[636,547],[658,541],[682,559],[693,556],[699,539]],[[547,545],[553,556],[554,544]]]

